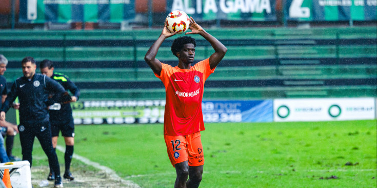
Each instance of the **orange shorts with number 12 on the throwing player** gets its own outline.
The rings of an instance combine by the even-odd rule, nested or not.
[[[164,135],[168,156],[173,167],[188,161],[189,166],[204,164],[204,153],[200,132],[186,136]]]

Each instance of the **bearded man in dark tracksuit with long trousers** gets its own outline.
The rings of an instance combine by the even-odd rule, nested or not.
[[[5,114],[13,101],[19,99],[19,140],[21,141],[23,160],[32,165],[32,150],[34,138],[41,143],[48,157],[49,164],[55,172],[54,187],[63,187],[60,167],[51,142],[51,129],[47,107],[49,93],[62,96],[62,100],[70,100],[70,96],[62,85],[42,74],[36,74],[36,64],[32,57],[26,57],[21,62],[23,77],[15,80],[1,108],[0,120],[5,120]],[[64,98],[63,96],[67,96]]]

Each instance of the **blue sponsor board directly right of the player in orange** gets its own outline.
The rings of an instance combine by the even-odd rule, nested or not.
[[[272,100],[203,101],[204,122],[272,122]]]

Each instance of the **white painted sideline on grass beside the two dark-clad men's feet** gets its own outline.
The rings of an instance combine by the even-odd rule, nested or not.
[[[56,145],[56,149],[58,151],[61,151],[63,153],[65,153],[66,149],[60,145]],[[102,170],[102,171],[105,171],[111,179],[113,180],[116,180],[116,181],[121,181],[122,183],[128,185],[129,187],[132,187],[132,188],[141,188],[138,184],[134,183],[133,181],[130,181],[130,180],[124,180],[122,179],[121,177],[119,177],[118,175],[116,175],[116,173],[109,167],[107,166],[103,166],[101,165],[100,163],[96,163],[96,162],[93,162],[85,157],[82,157],[80,155],[77,155],[77,154],[73,154],[73,158],[87,164],[87,165],[90,165],[90,166],[93,166],[95,168],[98,168],[99,170]]]

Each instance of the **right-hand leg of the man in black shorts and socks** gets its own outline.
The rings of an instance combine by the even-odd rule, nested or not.
[[[74,145],[74,123],[73,118],[65,124],[65,126],[61,127],[62,136],[66,142],[66,152],[64,154],[64,161],[65,161],[65,172],[63,177],[72,181],[74,177],[72,176],[69,168],[71,166],[71,161],[73,157],[73,145]]]

